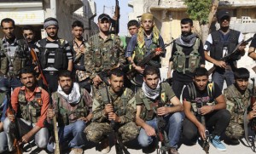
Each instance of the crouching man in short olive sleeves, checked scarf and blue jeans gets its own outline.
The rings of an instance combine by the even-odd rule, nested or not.
[[[180,138],[183,105],[175,96],[168,83],[160,83],[160,70],[147,66],[143,71],[143,87],[135,96],[137,104],[136,123],[141,126],[138,142],[143,147],[152,147],[157,138],[159,118],[163,117],[169,144],[166,145],[172,154],[177,154],[177,143]],[[161,91],[160,91],[161,89]],[[164,106],[159,106],[159,100]]]

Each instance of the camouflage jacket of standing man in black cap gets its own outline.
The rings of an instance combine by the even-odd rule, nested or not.
[[[89,44],[90,48],[84,54],[84,66],[91,79],[101,71],[125,63],[125,51],[119,37],[109,34],[103,40],[96,34],[90,37]]]

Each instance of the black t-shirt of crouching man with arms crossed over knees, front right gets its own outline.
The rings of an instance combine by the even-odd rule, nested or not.
[[[214,83],[214,88],[213,88],[213,94],[210,97],[207,88],[204,91],[199,91],[196,86],[196,98],[195,100],[201,99],[203,102],[213,102],[216,98],[218,98],[219,95],[222,94],[221,90],[218,88],[217,83]],[[192,98],[189,96],[189,88],[186,86],[183,89],[183,100],[191,102]]]

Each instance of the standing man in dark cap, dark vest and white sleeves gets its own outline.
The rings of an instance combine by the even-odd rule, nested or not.
[[[222,61],[221,58],[231,54],[236,45],[241,43],[243,35],[240,31],[230,29],[230,13],[227,10],[218,11],[217,18],[220,29],[209,34],[204,50],[206,60],[217,66],[216,70],[212,72],[212,81],[217,83],[222,90],[224,80],[227,86],[234,83],[233,71],[236,69],[236,60],[240,60],[241,56],[245,54],[245,46],[240,46],[239,52],[230,60]],[[209,51],[210,55],[208,55]]]

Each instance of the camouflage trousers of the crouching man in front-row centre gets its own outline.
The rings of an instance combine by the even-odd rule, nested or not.
[[[118,131],[124,143],[137,137],[138,128],[133,122],[125,123],[121,126],[117,125],[117,127],[119,127]],[[84,129],[87,140],[91,140],[96,143],[100,142],[112,131],[113,129],[111,128],[110,123],[90,123],[90,125]]]

